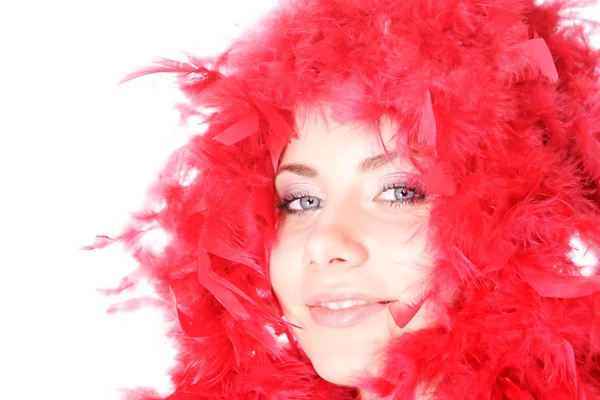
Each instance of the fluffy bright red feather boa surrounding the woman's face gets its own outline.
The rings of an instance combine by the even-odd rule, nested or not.
[[[148,210],[89,247],[126,243],[139,270],[116,291],[146,279],[162,300],[178,348],[167,399],[356,397],[278,339],[288,326],[267,278],[274,170],[294,115],[323,101],[340,121],[395,118],[399,151],[438,194],[424,305],[438,323],[394,339],[364,387],[600,399],[599,271],[580,277],[568,257],[575,235],[600,254],[599,53],[561,17],[580,5],[294,0],[219,57],[133,74],[179,74],[182,115],[206,128],[167,162]],[[148,229],[168,244],[147,245]]]

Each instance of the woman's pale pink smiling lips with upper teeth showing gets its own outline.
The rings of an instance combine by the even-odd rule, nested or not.
[[[323,306],[309,307],[310,316],[317,324],[327,328],[347,328],[358,325],[367,317],[388,309],[389,302],[374,302],[347,308],[331,309]]]

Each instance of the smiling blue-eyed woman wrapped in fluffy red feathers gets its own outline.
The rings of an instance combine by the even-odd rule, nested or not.
[[[598,52],[567,5],[297,0],[141,71],[204,122],[118,238],[119,289],[173,318],[168,398],[600,398]]]

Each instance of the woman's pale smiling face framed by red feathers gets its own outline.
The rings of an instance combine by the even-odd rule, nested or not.
[[[270,277],[286,319],[317,373],[352,386],[377,374],[377,351],[394,335],[388,302],[419,299],[426,280],[429,207],[407,183],[416,170],[389,162],[378,135],[315,112],[275,178],[281,200]],[[394,126],[381,125],[391,147]],[[405,329],[425,325],[423,310]]]

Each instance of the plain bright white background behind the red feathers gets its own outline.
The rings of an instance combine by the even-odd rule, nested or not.
[[[156,56],[224,49],[274,3],[0,5],[0,398],[168,392],[158,316],[106,315],[111,299],[96,293],[133,261],[120,247],[78,250],[119,231],[189,133],[167,80],[117,82]]]

